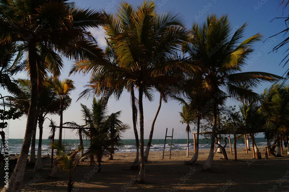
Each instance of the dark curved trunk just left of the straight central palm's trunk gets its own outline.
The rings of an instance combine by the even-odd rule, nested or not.
[[[131,170],[138,170],[140,169],[139,164],[139,149],[140,149],[140,143],[138,140],[138,130],[136,128],[136,102],[134,97],[134,86],[133,84],[130,85],[130,93],[131,93],[131,108],[132,108],[132,123],[134,126],[134,136],[136,138],[136,159],[132,163],[130,169]]]

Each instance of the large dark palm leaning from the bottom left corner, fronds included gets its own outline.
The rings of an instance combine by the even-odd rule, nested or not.
[[[25,140],[9,188],[2,190],[19,192],[34,130],[38,84],[43,83],[39,77],[60,74],[60,55],[75,60],[101,59],[103,52],[85,29],[98,27],[103,18],[97,11],[76,8],[66,0],[0,1],[0,9],[0,46],[16,43],[24,52],[32,84]]]

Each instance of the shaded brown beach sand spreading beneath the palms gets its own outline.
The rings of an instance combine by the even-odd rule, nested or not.
[[[190,151],[189,158],[186,157],[186,151],[172,151],[171,159],[169,152],[165,152],[164,160],[162,152],[150,152],[149,161],[145,165],[144,184],[131,184],[138,175],[138,171],[130,170],[135,153],[116,153],[114,160],[104,160],[100,173],[89,162],[80,165],[73,175],[74,191],[289,191],[287,150],[284,150],[284,157],[269,156],[268,160],[264,160],[265,148],[259,149],[262,153],[261,160],[252,160],[251,151],[246,154],[244,148],[238,148],[238,160],[234,161],[234,152],[231,155],[227,148],[229,160],[221,160],[222,154],[216,154],[212,171],[202,171],[208,149],[199,151],[199,158],[194,165],[184,164],[185,160],[193,156],[193,151]],[[26,168],[22,191],[67,191],[67,173],[59,171],[57,178],[49,178],[50,159],[46,157],[42,162],[43,171],[34,171],[33,167]],[[4,175],[3,170],[0,173]],[[0,182],[0,186],[3,186],[2,176]]]

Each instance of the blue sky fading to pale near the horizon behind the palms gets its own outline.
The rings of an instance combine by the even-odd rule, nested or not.
[[[117,8],[117,5],[120,1],[118,0],[108,0],[108,1],[95,1],[95,0],[82,0],[75,1],[78,6],[81,8],[93,8],[93,9],[104,9],[107,12],[114,12]],[[137,5],[141,1],[139,0],[128,0],[127,2],[132,5]],[[282,30],[286,29],[286,25],[284,19],[275,19],[276,17],[284,17],[282,15],[282,9],[278,8],[278,2],[274,0],[244,0],[244,1],[236,1],[236,0],[203,0],[203,1],[189,1],[189,0],[155,0],[158,9],[160,12],[166,11],[168,9],[173,9],[177,13],[181,13],[184,15],[186,20],[186,25],[188,28],[191,28],[193,22],[203,23],[206,19],[207,14],[216,13],[218,16],[222,14],[228,14],[229,19],[231,21],[231,25],[233,26],[233,30],[241,27],[244,23],[247,22],[248,26],[245,31],[245,38],[249,38],[250,36],[262,33],[264,38],[263,41],[275,35]],[[284,12],[284,15],[288,15],[288,11]],[[270,22],[273,20],[272,22]],[[105,46],[104,40],[104,32],[102,29],[89,29],[94,36],[97,38],[101,47]],[[244,40],[245,40],[244,38]],[[248,63],[250,66],[244,69],[244,71],[262,71],[269,72],[276,75],[283,75],[285,71],[288,69],[289,64],[287,64],[284,68],[283,64],[280,64],[281,60],[284,58],[285,47],[280,49],[277,53],[270,53],[272,48],[275,47],[278,43],[284,40],[284,37],[278,35],[274,38],[270,38],[265,42],[261,41],[256,43],[254,46],[254,53],[249,56]],[[65,62],[65,69],[62,73],[61,78],[68,77],[68,71],[73,62],[67,61]],[[25,78],[26,74],[22,73],[16,76],[17,78]],[[89,75],[72,75],[69,78],[75,81],[76,90],[72,93],[71,97],[73,99],[71,107],[68,108],[64,112],[64,122],[67,121],[75,121],[76,123],[83,124],[81,120],[81,108],[80,103],[87,105],[88,107],[92,104],[91,99],[81,99],[77,101],[78,94],[84,90],[83,86],[86,84],[86,81],[89,78]],[[257,93],[262,93],[265,88],[269,87],[271,84],[262,84],[255,91]],[[2,95],[7,95],[3,89],[1,89]],[[138,93],[135,93],[138,95]],[[144,99],[144,139],[148,139],[149,132],[151,128],[151,123],[155,116],[155,112],[158,108],[159,104],[159,95],[155,94],[155,100],[153,102],[147,101]],[[228,106],[239,105],[235,101],[227,101]],[[131,104],[130,104],[130,96],[128,93],[124,93],[121,96],[119,101],[115,101],[114,99],[110,99],[108,102],[109,111],[117,112],[122,110],[121,120],[123,123],[128,123],[132,127],[132,112],[131,112]],[[186,139],[186,133],[184,130],[186,129],[186,125],[182,125],[179,121],[181,120],[179,117],[179,111],[181,111],[181,106],[175,103],[175,101],[169,101],[168,103],[162,103],[162,108],[158,115],[158,119],[155,123],[155,130],[153,134],[153,139],[164,139],[166,128],[168,128],[168,135],[171,135],[172,128],[174,128],[174,137],[178,139]],[[48,116],[51,118],[51,116]],[[56,121],[57,125],[59,125],[59,117],[53,116],[52,119]],[[43,130],[43,139],[47,139],[49,135],[48,130],[49,121],[45,121],[44,130]],[[10,120],[9,125],[9,138],[11,139],[23,139],[25,134],[26,127],[26,118],[21,118],[21,120]],[[194,125],[191,125],[191,128],[194,128]],[[139,126],[138,126],[139,130]],[[194,130],[193,130],[194,132]],[[65,139],[78,139],[78,136],[75,136],[76,131],[73,133],[70,130],[63,130],[63,137]],[[178,136],[177,136],[177,133]],[[58,132],[57,132],[58,134]],[[262,137],[262,134],[257,137]],[[38,138],[38,131],[37,136]],[[192,134],[190,134],[190,138],[192,138]],[[125,134],[123,134],[123,139],[134,139],[134,132],[131,128]]]

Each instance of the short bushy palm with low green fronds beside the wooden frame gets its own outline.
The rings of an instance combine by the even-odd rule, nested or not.
[[[119,120],[121,111],[107,115],[108,108],[104,97],[98,100],[93,98],[92,109],[83,104],[81,108],[85,125],[90,127],[86,137],[92,138],[88,152],[95,154],[99,166],[98,171],[100,171],[102,158],[113,156],[117,150],[115,145],[121,145],[121,133],[129,129],[129,126]],[[91,156],[91,163],[92,161]]]

